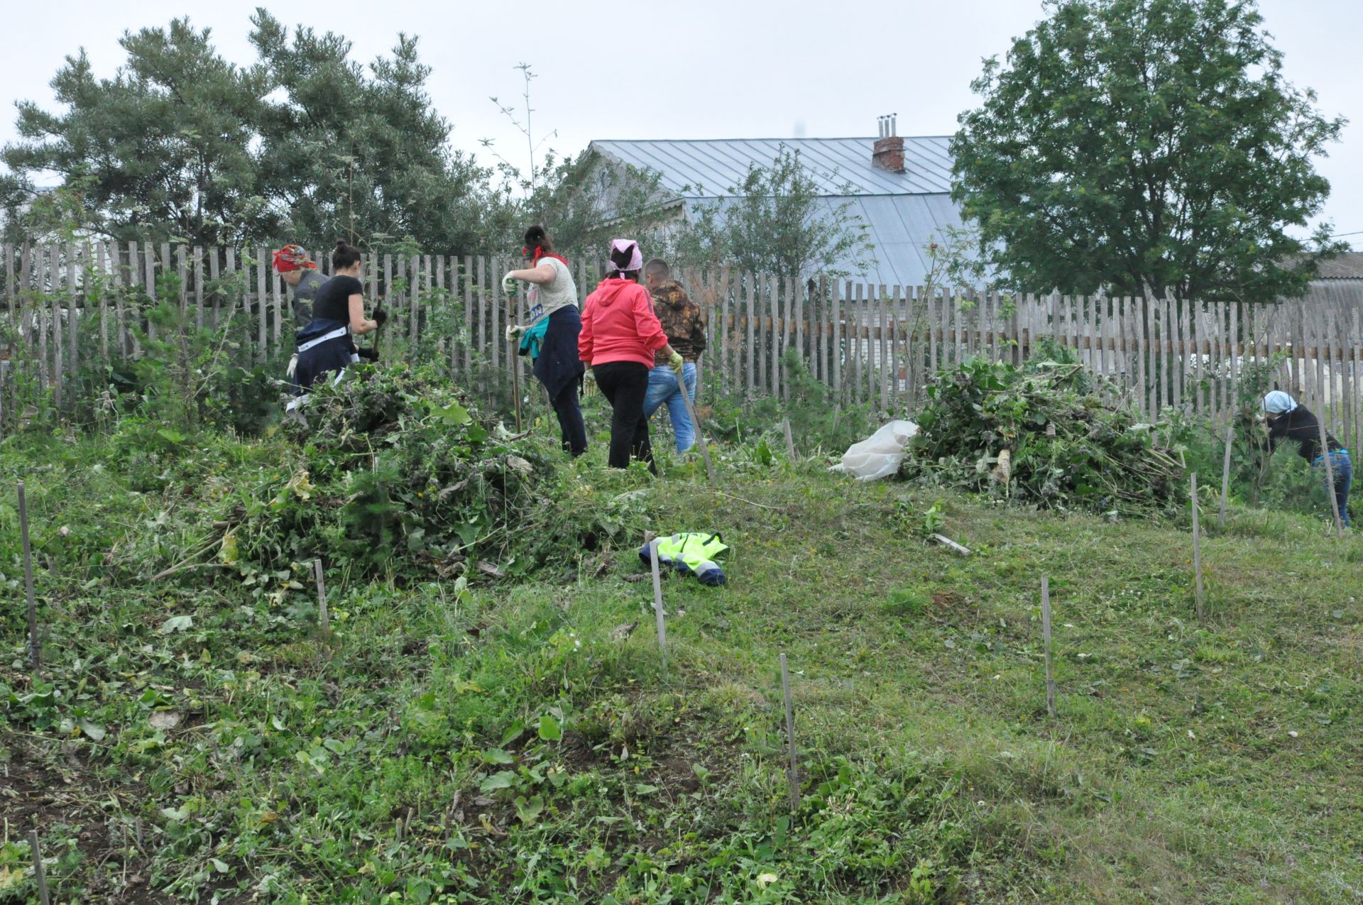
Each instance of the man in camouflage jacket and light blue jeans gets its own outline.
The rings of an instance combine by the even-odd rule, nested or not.
[[[679,382],[665,360],[654,360],[653,371],[649,372],[649,394],[643,398],[643,414],[652,417],[660,406],[667,405],[677,452],[686,452],[695,446],[695,427],[687,414],[682,393],[695,402],[695,363],[705,352],[705,312],[691,301],[682,283],[672,279],[672,269],[661,258],[643,266],[643,281],[653,294],[653,311],[662,323],[662,333],[686,361]]]

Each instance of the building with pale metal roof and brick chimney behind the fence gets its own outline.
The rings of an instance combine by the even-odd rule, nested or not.
[[[601,159],[656,173],[662,207],[688,215],[702,204],[721,210],[735,200],[750,166],[770,166],[782,146],[818,183],[829,211],[848,211],[867,225],[875,263],[853,279],[916,286],[925,282],[931,262],[927,247],[943,241],[947,228],[960,228],[951,203],[951,155],[947,136],[904,138],[882,124],[879,138],[793,138],[716,140],[596,140],[589,151]],[[593,191],[609,215],[612,174],[596,174]]]

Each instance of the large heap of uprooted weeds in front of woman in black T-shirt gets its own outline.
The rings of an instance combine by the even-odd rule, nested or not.
[[[304,413],[305,425],[285,424],[294,444],[275,480],[221,515],[222,562],[285,570],[322,556],[360,575],[473,581],[642,533],[637,493],[583,493],[551,438],[510,433],[433,372],[354,368]]]

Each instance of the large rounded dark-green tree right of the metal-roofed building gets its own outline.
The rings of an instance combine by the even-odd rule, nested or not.
[[[1344,121],[1289,85],[1253,0],[1048,0],[953,143],[953,198],[1014,285],[1299,294]]]

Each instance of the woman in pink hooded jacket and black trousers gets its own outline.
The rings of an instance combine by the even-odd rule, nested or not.
[[[611,403],[611,467],[628,467],[630,457],[653,465],[649,420],[643,397],[649,391],[649,369],[661,349],[673,371],[682,371],[682,356],[668,343],[662,324],[653,312],[653,297],[639,285],[643,252],[630,239],[611,241],[611,273],[582,308],[578,357],[592,368],[601,395]]]

